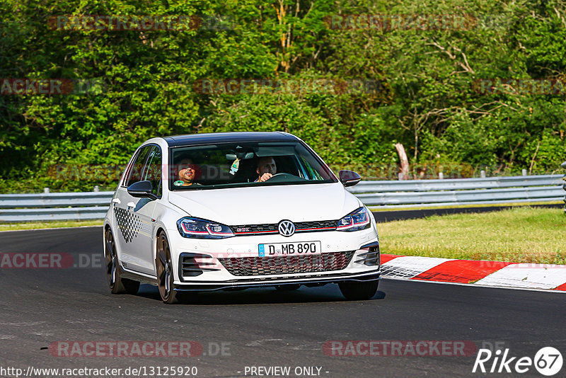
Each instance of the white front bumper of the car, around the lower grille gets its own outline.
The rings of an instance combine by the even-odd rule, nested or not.
[[[379,280],[379,240],[374,227],[350,233],[325,231],[295,234],[288,238],[279,235],[235,236],[228,239],[204,241],[183,238],[178,234],[177,230],[171,230],[168,232],[168,237],[172,247],[171,258],[174,265],[174,284],[177,290],[180,291],[197,291],[296,284],[316,286],[345,280]],[[234,275],[226,268],[227,265],[225,266],[223,263],[226,258],[255,261],[258,258],[258,244],[308,241],[321,242],[321,255],[325,257],[323,259],[325,264],[335,263],[338,260],[330,256],[333,254],[350,253],[348,255],[350,257],[347,263],[343,263],[342,260],[340,266],[334,264],[333,268],[328,270],[302,271],[283,269],[277,270],[277,273],[272,271],[270,274],[265,275],[259,274],[255,269],[253,269],[253,275],[241,275],[238,273]],[[368,256],[371,251],[374,251],[372,252],[372,256],[374,256],[373,263],[364,263],[367,260],[371,260],[372,256]],[[192,256],[189,259],[190,263],[187,263],[187,260],[183,260],[183,257],[186,256]],[[284,265],[279,266],[284,267]],[[191,272],[192,269],[195,270],[194,273]],[[279,271],[284,271],[285,273],[279,274]]]

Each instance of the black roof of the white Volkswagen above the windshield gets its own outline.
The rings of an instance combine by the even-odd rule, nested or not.
[[[209,134],[187,134],[164,137],[169,147],[190,146],[223,142],[282,142],[299,138],[287,132],[214,132]]]

